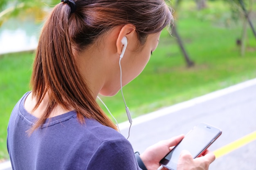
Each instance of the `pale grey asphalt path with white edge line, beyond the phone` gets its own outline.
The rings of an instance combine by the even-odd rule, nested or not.
[[[128,101],[127,101],[128,102]],[[132,107],[130,106],[130,110]],[[129,141],[135,151],[144,150],[160,140],[186,134],[200,122],[222,129],[222,135],[210,146],[215,151],[256,131],[256,79],[225,88],[133,119]],[[119,124],[128,136],[129,123]],[[231,147],[209,170],[256,169],[256,140],[241,147]],[[0,163],[0,170],[11,170],[10,163]]]

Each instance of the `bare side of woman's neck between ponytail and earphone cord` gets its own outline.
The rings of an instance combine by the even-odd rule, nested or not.
[[[115,43],[115,38],[105,38],[76,55],[76,64],[94,99],[99,93],[111,96],[120,89],[119,55],[115,52]]]

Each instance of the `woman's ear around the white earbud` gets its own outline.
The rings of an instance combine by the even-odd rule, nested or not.
[[[117,37],[117,53],[119,55],[121,55],[122,49],[124,47],[123,43],[121,42],[124,37],[127,38],[127,42],[128,42],[127,44],[129,44],[129,42],[134,41],[135,38],[137,40],[137,36],[135,36],[136,35],[135,31],[136,31],[136,28],[132,24],[126,24],[121,28]]]

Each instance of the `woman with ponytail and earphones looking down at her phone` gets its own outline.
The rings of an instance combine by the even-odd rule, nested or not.
[[[32,90],[10,117],[13,170],[156,170],[183,135],[149,147],[136,160],[96,98],[115,95],[141,73],[171,21],[164,0],[57,4],[40,35]],[[207,170],[214,159],[209,151],[197,159],[184,151],[178,170]]]

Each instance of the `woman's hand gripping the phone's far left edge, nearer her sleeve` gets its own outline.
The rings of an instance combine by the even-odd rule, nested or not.
[[[145,164],[148,170],[157,170],[160,164],[159,162],[164,156],[171,151],[173,146],[176,146],[184,135],[179,135],[168,140],[159,141],[157,144],[148,147],[144,153],[140,155],[141,160]]]

